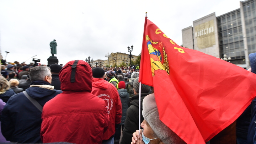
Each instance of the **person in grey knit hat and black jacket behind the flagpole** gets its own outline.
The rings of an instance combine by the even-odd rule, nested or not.
[[[121,144],[130,144],[132,142],[133,132],[138,129],[139,126],[139,77],[133,82],[134,96],[130,97],[130,107],[126,111],[126,120],[124,122],[123,136]],[[149,95],[150,86],[141,84],[141,109],[140,113],[142,116],[142,101],[143,98]],[[140,118],[140,123],[144,120]]]

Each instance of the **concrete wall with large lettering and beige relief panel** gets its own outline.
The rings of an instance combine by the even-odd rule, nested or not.
[[[193,34],[195,50],[220,58],[215,12],[193,21]]]

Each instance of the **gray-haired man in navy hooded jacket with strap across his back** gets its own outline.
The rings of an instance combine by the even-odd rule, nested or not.
[[[27,94],[39,105],[60,94],[50,84],[52,74],[47,66],[36,66],[30,70],[31,85]],[[42,112],[23,92],[13,95],[6,103],[1,115],[1,131],[6,140],[18,143],[42,143],[40,138]]]

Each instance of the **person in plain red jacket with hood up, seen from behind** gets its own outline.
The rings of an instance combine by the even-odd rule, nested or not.
[[[43,143],[101,144],[109,116],[104,100],[91,94],[92,70],[83,60],[60,70],[62,94],[48,101],[42,112]]]

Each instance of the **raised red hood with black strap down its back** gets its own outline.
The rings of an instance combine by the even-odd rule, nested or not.
[[[71,82],[72,60],[60,70],[59,79],[62,91],[87,91],[92,90],[92,70],[88,63],[79,60],[75,68],[75,82]]]

